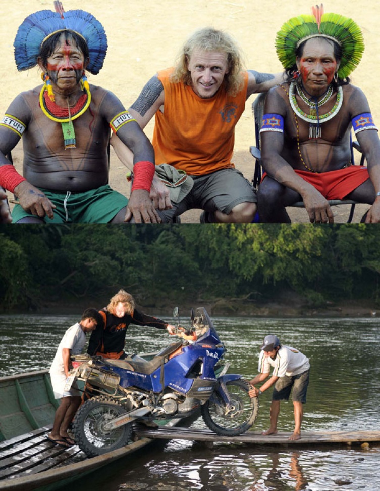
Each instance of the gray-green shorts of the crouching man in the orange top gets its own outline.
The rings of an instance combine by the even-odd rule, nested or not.
[[[228,215],[241,203],[257,203],[252,184],[235,168],[222,169],[207,175],[192,175],[194,186],[180,203],[171,210],[160,211],[162,222],[181,215],[190,209],[221,211]]]

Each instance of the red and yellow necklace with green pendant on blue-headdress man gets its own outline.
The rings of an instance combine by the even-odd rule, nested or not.
[[[69,103],[67,108],[63,108],[54,102],[51,84],[49,84],[48,80],[45,80],[39,95],[39,103],[44,115],[51,119],[51,121],[61,123],[65,141],[65,150],[76,147],[73,121],[79,118],[79,116],[88,109],[91,103],[90,87],[86,81],[81,84],[81,88],[85,91],[85,94],[82,94],[73,108],[69,107]]]

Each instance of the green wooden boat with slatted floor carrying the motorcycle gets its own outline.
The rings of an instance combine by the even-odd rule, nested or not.
[[[122,449],[88,458],[78,446],[51,443],[58,401],[47,370],[0,378],[0,491],[51,491],[68,486],[152,441],[142,437]],[[162,421],[174,426],[180,419]]]

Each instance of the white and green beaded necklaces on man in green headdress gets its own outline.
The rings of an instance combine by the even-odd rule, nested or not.
[[[306,114],[298,106],[296,94],[295,94],[296,87],[297,87],[296,82],[291,82],[290,87],[289,87],[289,103],[290,103],[294,113],[298,117],[300,117],[303,121],[306,121],[309,123],[309,138],[314,138],[314,139],[321,138],[322,128],[321,128],[320,124],[324,123],[325,121],[329,121],[330,119],[332,119],[334,116],[336,116],[338,114],[338,112],[339,112],[339,110],[343,104],[343,89],[342,89],[342,87],[338,87],[337,100],[336,100],[334,106],[331,108],[331,110],[325,114],[319,115],[319,107],[322,106],[322,104],[325,104],[330,99],[330,97],[333,93],[332,86],[329,87],[328,92],[326,93],[324,98],[319,103],[317,101],[315,101],[315,103],[312,105],[311,105],[310,101],[306,98],[306,96],[303,94],[303,92],[299,91],[298,87],[297,87],[298,95],[311,108],[310,114]],[[331,89],[331,94],[329,95],[330,89]],[[303,97],[300,94],[300,92],[303,95]],[[327,98],[327,96],[329,96],[329,97]]]

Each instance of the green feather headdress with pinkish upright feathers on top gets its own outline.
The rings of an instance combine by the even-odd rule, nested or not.
[[[312,9],[314,15],[300,15],[288,20],[276,36],[276,52],[287,70],[296,64],[299,45],[313,37],[324,37],[339,44],[342,58],[338,70],[343,79],[358,66],[364,52],[360,27],[352,19],[339,14],[323,14],[323,5]]]

